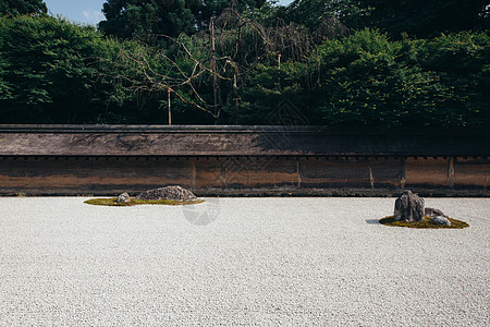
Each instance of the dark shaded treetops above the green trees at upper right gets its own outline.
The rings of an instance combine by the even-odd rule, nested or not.
[[[277,16],[310,31],[336,16],[351,28],[377,27],[400,38],[488,28],[489,10],[488,0],[295,0]]]

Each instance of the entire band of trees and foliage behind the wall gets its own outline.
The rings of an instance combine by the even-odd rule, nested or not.
[[[424,33],[408,7],[404,21],[380,21],[382,1],[262,2],[111,0],[103,33],[47,15],[0,16],[0,122],[167,123],[170,92],[173,123],[490,126],[485,1],[465,2],[451,26],[438,20],[456,1],[430,24],[414,16]]]

